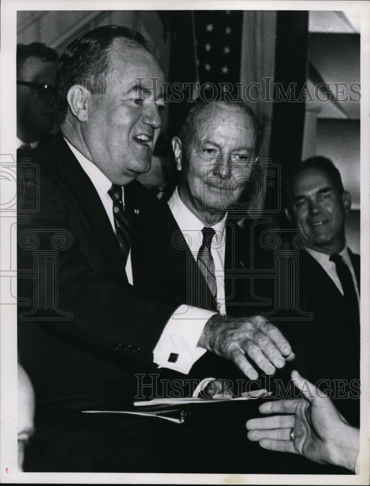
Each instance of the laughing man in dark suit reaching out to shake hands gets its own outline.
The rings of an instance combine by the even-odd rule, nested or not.
[[[149,170],[161,126],[153,80],[161,87],[157,58],[125,27],[83,35],[58,63],[61,135],[32,152],[20,194],[18,347],[36,405],[25,470],[190,472],[202,437],[182,441],[176,425],[152,418],[81,412],[132,407],[135,374],[186,374],[207,351],[250,378],[250,359],[273,373],[291,356],[258,316],[220,321],[213,310],[148,296],[161,251],[148,235],[161,233],[163,218],[134,179]]]

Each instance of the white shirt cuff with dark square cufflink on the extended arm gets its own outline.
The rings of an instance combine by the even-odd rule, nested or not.
[[[193,364],[207,351],[198,347],[199,338],[214,312],[181,305],[167,322],[154,348],[154,363],[188,374]]]

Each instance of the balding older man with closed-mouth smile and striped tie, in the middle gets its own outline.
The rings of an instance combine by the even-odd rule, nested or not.
[[[258,121],[246,104],[198,100],[172,140],[179,183],[163,204],[165,293],[224,318],[256,315],[250,279],[238,278],[238,272],[251,267],[250,234],[236,222],[260,138]],[[159,286],[157,291],[162,292]]]

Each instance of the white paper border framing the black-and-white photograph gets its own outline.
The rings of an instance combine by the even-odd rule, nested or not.
[[[19,473],[16,471],[16,305],[0,306],[0,481],[1,483],[109,484],[369,484],[369,298],[370,258],[370,3],[365,1],[185,1],[173,0],[2,0],[0,52],[0,156],[16,158],[16,11],[17,10],[354,10],[361,12],[361,450],[359,475],[222,475],[136,473]],[[0,180],[1,184],[1,180]],[[9,194],[2,191],[0,201]],[[0,269],[14,258],[9,248],[10,218],[1,218]],[[12,254],[10,254],[12,251]],[[0,274],[1,275],[1,274]],[[0,302],[6,289],[0,287]]]

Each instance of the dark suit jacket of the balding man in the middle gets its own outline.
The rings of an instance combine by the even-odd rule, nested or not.
[[[162,214],[166,224],[166,232],[161,235],[162,253],[157,264],[162,268],[161,278],[157,279],[154,289],[159,298],[171,296],[179,304],[190,307],[200,307],[216,312],[212,302],[209,287],[199,270],[193,254],[182,237],[166,202],[162,203]],[[192,237],[191,228],[189,236]],[[258,301],[252,296],[251,280],[238,278],[249,268],[251,258],[250,232],[244,231],[233,219],[228,218],[225,223],[225,304],[227,315],[248,316],[256,315]],[[159,274],[159,272],[157,272]],[[152,276],[153,277],[153,276]],[[163,377],[174,377],[174,373],[163,370]],[[235,364],[213,353],[207,352],[195,364],[189,373],[189,378],[203,379],[214,376],[234,380],[243,379]]]

